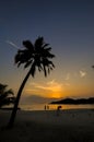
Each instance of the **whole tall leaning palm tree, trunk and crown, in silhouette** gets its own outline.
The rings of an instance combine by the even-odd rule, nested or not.
[[[24,40],[23,47],[24,48],[19,49],[17,54],[15,55],[15,64],[17,64],[17,67],[24,64],[24,68],[30,67],[30,70],[17,92],[14,108],[9,121],[9,128],[13,127],[20,97],[30,75],[34,78],[36,69],[38,69],[38,71],[43,71],[45,76],[47,76],[50,70],[55,68],[52,61],[50,60],[55,57],[55,55],[50,54],[51,47],[49,47],[49,44],[44,42],[43,37],[38,37],[34,44],[32,44],[30,40]]]

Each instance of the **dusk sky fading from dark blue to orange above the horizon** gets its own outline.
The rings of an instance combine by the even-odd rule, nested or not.
[[[22,97],[94,96],[94,1],[0,0],[0,83],[16,94],[27,70],[14,64],[22,42],[50,44],[56,68],[28,79]]]

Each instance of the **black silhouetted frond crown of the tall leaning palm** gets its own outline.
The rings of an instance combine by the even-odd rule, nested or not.
[[[33,45],[30,40],[24,40],[24,49],[20,49],[15,56],[15,63],[20,67],[22,63],[24,68],[31,68],[32,76],[35,75],[36,68],[38,71],[44,71],[45,76],[55,68],[54,63],[49,60],[55,57],[50,54],[51,47],[49,44],[44,43],[43,37],[38,37]]]

